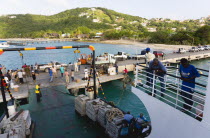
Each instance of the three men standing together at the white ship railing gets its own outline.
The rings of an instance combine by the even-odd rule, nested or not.
[[[147,75],[146,85],[151,87],[151,85],[153,84],[153,75],[155,74],[155,80],[157,77],[160,80],[161,96],[164,97],[165,93],[164,76],[167,73],[167,69],[161,61],[155,58],[154,54],[150,53],[149,48],[146,49],[145,58],[146,58],[146,65],[148,67],[146,74]],[[180,60],[179,73],[180,73],[180,79],[182,80],[180,94],[185,102],[183,104],[184,108],[183,111],[191,110],[193,105],[192,95],[194,93],[194,88],[195,88],[195,78],[200,77],[200,74],[193,65],[189,64],[189,61],[186,58],[182,58]],[[156,89],[154,93],[156,94]]]

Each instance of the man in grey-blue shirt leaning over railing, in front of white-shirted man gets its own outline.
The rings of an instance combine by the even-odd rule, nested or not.
[[[157,58],[153,59],[150,63],[149,63],[149,86],[153,84],[153,75],[155,74],[155,80],[158,77],[158,79],[160,80],[160,86],[161,86],[161,96],[164,97],[164,92],[165,92],[165,83],[164,83],[164,76],[167,72],[166,67],[162,64],[162,62],[160,62]],[[156,93],[156,84],[154,81],[154,93]]]

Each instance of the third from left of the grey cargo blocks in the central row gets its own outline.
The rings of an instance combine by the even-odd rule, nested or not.
[[[112,106],[107,105],[107,104],[99,107],[97,121],[104,128],[106,128],[106,124],[107,124],[106,113],[110,111],[112,108],[113,108]]]

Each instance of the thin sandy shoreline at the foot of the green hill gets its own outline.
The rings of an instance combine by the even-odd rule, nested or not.
[[[7,38],[7,39],[0,39],[6,41],[72,41],[70,38],[64,39],[31,39],[31,38]],[[89,43],[102,43],[102,44],[117,44],[117,45],[135,45],[142,48],[152,48],[152,49],[160,49],[160,50],[172,50],[177,51],[178,48],[185,48],[186,50],[190,49],[192,46],[190,45],[168,45],[168,44],[154,44],[154,43],[144,43],[138,42],[134,40],[104,40],[104,41],[88,41],[88,40],[80,40],[80,41],[72,41],[72,42],[89,42]]]

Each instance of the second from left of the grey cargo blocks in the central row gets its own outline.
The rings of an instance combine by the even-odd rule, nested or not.
[[[86,115],[93,121],[97,120],[98,109],[103,106],[104,101],[98,99],[87,101]]]

